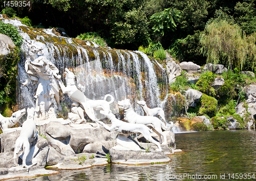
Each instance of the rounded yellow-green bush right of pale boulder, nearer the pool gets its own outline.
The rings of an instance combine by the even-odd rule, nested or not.
[[[201,107],[199,108],[199,115],[208,115],[210,118],[217,113],[217,100],[213,97],[203,94],[200,98]]]

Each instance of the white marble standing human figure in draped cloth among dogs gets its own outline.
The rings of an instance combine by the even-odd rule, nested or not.
[[[60,87],[57,82],[61,78],[58,75],[59,70],[42,55],[41,47],[32,43],[28,47],[29,58],[25,62],[27,80],[23,83],[23,86],[26,86],[31,80],[33,81],[34,97],[36,98],[35,116],[39,117],[39,120],[54,118],[53,98],[56,100],[58,110],[61,111],[59,103]]]

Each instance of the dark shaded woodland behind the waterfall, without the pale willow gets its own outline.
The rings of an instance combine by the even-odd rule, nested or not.
[[[2,11],[4,1],[0,2]],[[230,25],[237,24],[246,35],[256,30],[254,0],[31,0],[30,5],[12,9],[16,16],[31,19],[33,26],[60,27],[70,37],[95,32],[108,46],[117,49],[138,50],[140,46],[160,42],[178,61],[199,65],[206,63],[200,35],[210,22],[226,20]],[[176,27],[163,27],[163,33],[154,31],[158,22],[151,19],[152,15],[167,8],[180,11],[174,21]],[[251,67],[245,65],[243,69]]]

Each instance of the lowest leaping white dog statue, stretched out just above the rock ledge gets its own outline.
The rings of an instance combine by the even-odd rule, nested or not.
[[[100,110],[101,111],[101,110]],[[126,123],[123,121],[118,120],[115,115],[110,112],[108,115],[105,115],[108,117],[108,119],[111,121],[112,125],[109,127],[108,125],[104,124],[102,121],[97,121],[99,124],[101,124],[106,130],[108,131],[117,131],[121,134],[132,134],[132,133],[141,133],[143,134],[144,138],[157,145],[158,149],[157,151],[162,151],[162,148],[159,144],[159,142],[155,141],[151,135],[150,135],[150,128],[143,124],[133,124],[133,123]]]

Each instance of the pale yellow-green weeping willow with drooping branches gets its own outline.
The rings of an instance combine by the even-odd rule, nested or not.
[[[201,52],[207,56],[207,63],[221,63],[229,69],[243,69],[248,64],[253,70],[256,62],[255,34],[246,36],[241,28],[226,20],[213,21],[200,35]],[[248,63],[249,62],[249,63]]]

